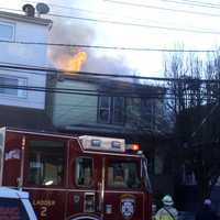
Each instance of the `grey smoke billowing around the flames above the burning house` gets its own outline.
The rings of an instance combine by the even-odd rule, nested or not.
[[[54,20],[50,42],[62,42],[64,44],[74,45],[92,45],[96,40],[96,34],[98,34],[98,32],[95,31],[95,28],[89,25],[89,23]],[[50,46],[48,56],[52,63],[56,66],[56,63],[58,63],[61,57],[64,57],[64,55],[69,57],[74,56],[78,52],[87,53],[87,61],[81,66],[82,72],[119,75],[133,74],[134,72],[128,67],[125,59],[122,56],[113,57],[108,55],[108,52],[98,55],[97,48]]]

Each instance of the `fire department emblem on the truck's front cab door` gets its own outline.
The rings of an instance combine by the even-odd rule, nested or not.
[[[135,209],[135,200],[132,197],[121,199],[121,213],[125,219],[130,219]]]

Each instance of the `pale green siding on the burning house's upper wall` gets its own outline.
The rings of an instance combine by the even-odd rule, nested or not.
[[[80,81],[61,81],[56,88],[96,90],[96,85]],[[53,122],[55,127],[72,124],[90,124],[97,122],[97,96],[56,94],[53,103]]]

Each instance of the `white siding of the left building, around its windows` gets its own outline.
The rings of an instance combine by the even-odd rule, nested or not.
[[[0,22],[10,22],[14,24],[14,40],[20,42],[47,42],[48,26],[34,23],[10,21],[0,18]],[[46,66],[47,47],[46,45],[25,45],[0,42],[1,64],[18,64],[29,66]],[[3,53],[2,53],[3,52]],[[29,73],[29,70],[6,70],[1,69],[0,74],[6,76],[15,76],[26,78],[26,86],[45,87],[46,73]],[[19,98],[6,96],[0,94],[0,105],[18,106],[44,109],[45,108],[45,94],[38,91],[29,91],[26,98]]]

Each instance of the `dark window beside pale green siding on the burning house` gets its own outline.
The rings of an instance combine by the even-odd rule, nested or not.
[[[100,123],[122,124],[124,122],[123,97],[99,97],[98,121]]]

